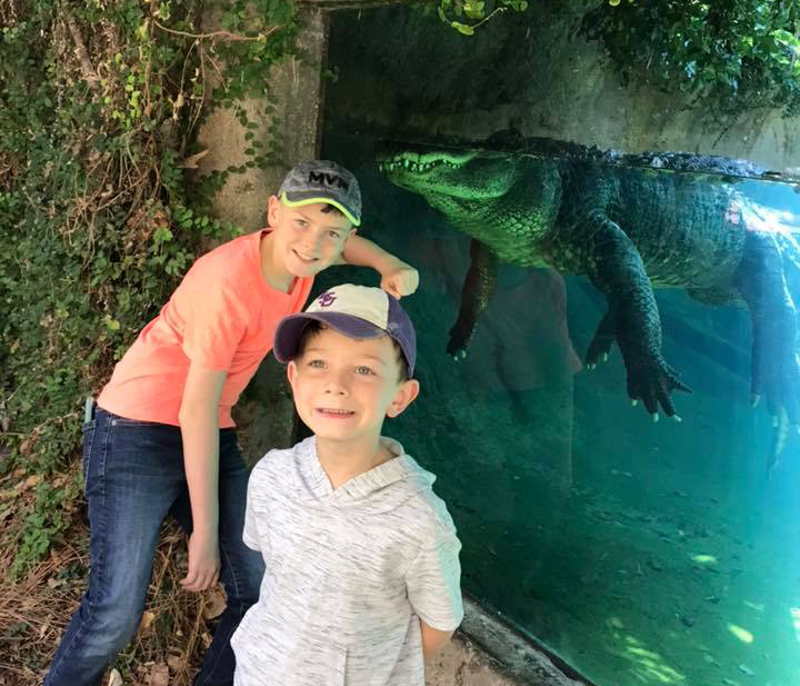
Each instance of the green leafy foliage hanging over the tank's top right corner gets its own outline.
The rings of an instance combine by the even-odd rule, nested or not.
[[[581,31],[623,80],[689,93],[714,116],[800,107],[798,0],[610,0]]]

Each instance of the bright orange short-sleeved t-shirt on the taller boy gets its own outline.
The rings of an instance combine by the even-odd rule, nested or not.
[[[142,421],[180,426],[189,362],[227,370],[219,426],[234,426],[231,407],[272,349],[281,318],[302,309],[313,277],[291,292],[261,274],[263,231],[236,238],[198,259],[161,312],[139,334],[98,398],[103,409]]]

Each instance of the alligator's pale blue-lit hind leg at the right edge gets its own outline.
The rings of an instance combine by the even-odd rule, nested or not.
[[[773,422],[786,410],[789,421],[800,425],[798,312],[784,274],[790,259],[771,233],[748,231],[736,286],[752,317],[753,399],[766,397]]]

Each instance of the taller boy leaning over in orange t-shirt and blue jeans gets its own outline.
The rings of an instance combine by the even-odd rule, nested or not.
[[[333,162],[292,169],[269,199],[268,220],[268,229],[194,262],[91,410],[83,427],[89,588],[46,686],[97,686],[133,636],[168,514],[189,533],[183,588],[221,579],[228,596],[194,684],[232,684],[229,640],[258,599],[263,560],[242,543],[249,475],[231,407],[271,349],[278,322],[302,309],[316,274],[342,261],[371,266],[396,297],[413,292],[419,278],[353,235],[358,181]]]

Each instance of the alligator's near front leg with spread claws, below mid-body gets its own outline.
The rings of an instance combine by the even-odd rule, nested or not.
[[[583,222],[581,261],[609,309],[589,346],[587,364],[608,355],[616,340],[628,374],[628,396],[641,400],[653,419],[659,406],[676,416],[673,390],[691,392],[661,355],[661,320],[641,256],[624,231],[602,212]]]

